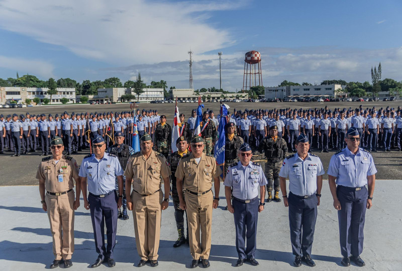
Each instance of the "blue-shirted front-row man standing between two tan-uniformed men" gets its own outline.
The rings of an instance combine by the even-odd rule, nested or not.
[[[106,144],[102,136],[92,139],[93,154],[86,155],[81,162],[79,176],[85,209],[90,209],[93,236],[98,257],[91,267],[105,260],[115,266],[113,249],[116,245],[117,210],[123,199],[123,168],[114,154],[105,153]],[[119,198],[115,190],[115,177],[119,180]],[[86,196],[88,184],[89,196]],[[89,207],[88,207],[89,205]],[[108,244],[105,247],[105,224]]]

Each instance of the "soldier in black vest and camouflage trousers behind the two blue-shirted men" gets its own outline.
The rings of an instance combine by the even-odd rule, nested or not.
[[[272,200],[280,202],[279,190],[280,180],[279,171],[282,165],[283,159],[287,156],[287,145],[283,138],[278,137],[278,127],[273,122],[269,127],[269,135],[265,137],[258,146],[258,151],[262,153],[264,151],[267,162],[265,163],[265,175],[268,180],[267,202]],[[272,199],[272,180],[275,196]]]

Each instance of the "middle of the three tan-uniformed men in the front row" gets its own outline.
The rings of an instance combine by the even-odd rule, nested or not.
[[[152,150],[153,143],[149,134],[141,137],[140,145],[141,151],[129,158],[124,171],[127,207],[133,210],[135,242],[141,257],[137,266],[150,262],[154,267],[158,265],[161,210],[166,210],[169,206],[170,169],[165,156]],[[161,177],[164,183],[164,200]]]

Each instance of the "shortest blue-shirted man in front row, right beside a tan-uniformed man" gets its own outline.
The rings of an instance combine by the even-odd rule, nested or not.
[[[267,179],[261,165],[250,161],[252,154],[247,143],[240,146],[237,155],[240,161],[229,166],[224,182],[228,211],[234,214],[235,219],[236,250],[239,255],[236,266],[242,265],[245,260],[258,265],[255,260],[257,221],[258,213],[264,210]]]

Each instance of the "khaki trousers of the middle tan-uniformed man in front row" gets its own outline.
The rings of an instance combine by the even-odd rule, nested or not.
[[[162,191],[145,197],[131,193],[135,243],[142,260],[158,259],[162,200]]]

